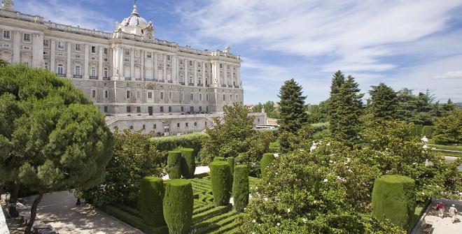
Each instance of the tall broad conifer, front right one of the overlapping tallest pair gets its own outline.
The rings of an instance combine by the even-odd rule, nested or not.
[[[336,126],[335,131],[331,130],[332,138],[345,142],[346,145],[355,145],[358,142],[360,131],[360,116],[363,114],[364,94],[360,94],[358,83],[349,75],[338,92],[336,119],[331,119],[331,126]]]

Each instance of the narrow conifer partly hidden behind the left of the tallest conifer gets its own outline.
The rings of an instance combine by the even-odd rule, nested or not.
[[[342,71],[337,71],[332,76],[332,85],[330,85],[330,98],[328,99],[328,115],[330,119],[330,131],[337,132],[338,126],[338,115],[337,109],[339,106],[339,92],[340,87],[345,82],[345,76],[343,75]]]

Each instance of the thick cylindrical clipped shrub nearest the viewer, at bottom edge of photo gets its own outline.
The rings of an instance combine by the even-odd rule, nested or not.
[[[185,179],[165,182],[163,210],[170,234],[189,233],[193,224],[193,186]]]

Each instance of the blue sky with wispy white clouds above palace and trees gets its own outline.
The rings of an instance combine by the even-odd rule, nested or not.
[[[47,20],[113,31],[133,1],[22,0],[15,9]],[[462,102],[462,0],[139,0],[155,36],[240,54],[244,103],[278,101],[294,78],[307,103],[328,98],[337,70],[362,92],[385,82]]]

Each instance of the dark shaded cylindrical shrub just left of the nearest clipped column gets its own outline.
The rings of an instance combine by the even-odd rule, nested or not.
[[[163,182],[162,178],[159,177],[144,177],[140,182],[141,217],[149,226],[160,227],[165,225],[164,214],[162,213]]]

